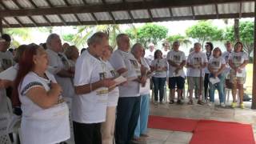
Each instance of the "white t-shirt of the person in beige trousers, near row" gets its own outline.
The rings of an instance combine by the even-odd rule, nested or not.
[[[118,77],[118,72],[116,72],[110,62],[104,62],[106,66],[106,78],[116,78]],[[118,106],[119,89],[115,87],[108,94],[107,106]]]

